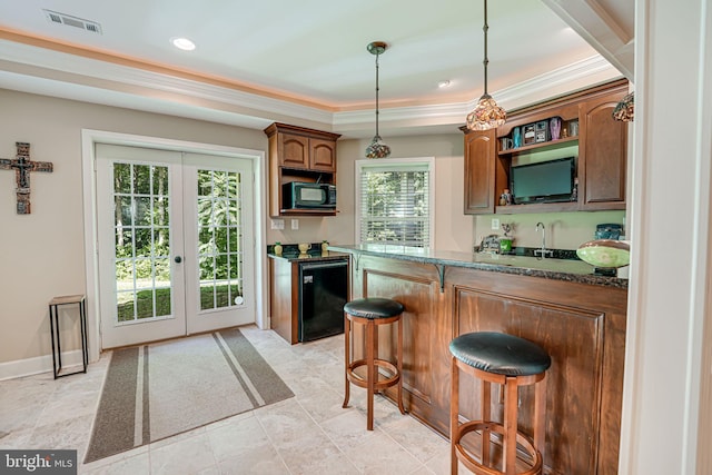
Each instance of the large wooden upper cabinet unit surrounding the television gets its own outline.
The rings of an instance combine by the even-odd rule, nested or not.
[[[613,120],[612,112],[626,93],[627,81],[617,80],[514,111],[495,130],[461,128],[465,132],[464,212],[625,209],[627,125]],[[558,125],[555,132],[552,119]],[[513,166],[570,157],[575,157],[570,198],[501,204],[505,189],[516,195],[511,181]]]

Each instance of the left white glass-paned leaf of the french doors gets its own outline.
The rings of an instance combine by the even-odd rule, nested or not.
[[[181,155],[96,149],[102,347],[185,335]]]

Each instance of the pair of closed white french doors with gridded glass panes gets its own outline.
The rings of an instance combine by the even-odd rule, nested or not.
[[[102,348],[255,321],[251,162],[96,147]]]

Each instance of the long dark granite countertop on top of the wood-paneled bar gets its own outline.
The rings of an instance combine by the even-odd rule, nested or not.
[[[492,273],[543,277],[580,284],[627,288],[627,279],[594,274],[594,267],[583,260],[541,259],[531,256],[490,253],[458,253],[396,245],[329,245],[329,250],[409,260],[412,263],[466,267]]]

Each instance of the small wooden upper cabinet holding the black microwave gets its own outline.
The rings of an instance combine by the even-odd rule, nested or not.
[[[275,122],[269,138],[269,215],[335,216],[335,210],[284,209],[283,185],[291,181],[336,185],[338,133]]]

